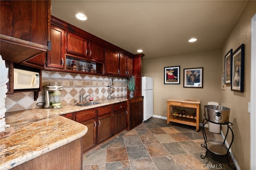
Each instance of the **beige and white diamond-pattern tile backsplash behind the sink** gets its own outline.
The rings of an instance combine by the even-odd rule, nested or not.
[[[126,78],[42,71],[42,91],[39,92],[37,101],[34,101],[34,92],[18,92],[7,95],[5,107],[7,111],[42,107],[45,102],[44,86],[47,86],[47,82],[60,82],[63,86],[62,105],[80,101],[80,94],[84,94],[84,97],[92,94],[94,100],[104,99],[109,95],[110,78],[113,78],[112,96],[126,96]]]

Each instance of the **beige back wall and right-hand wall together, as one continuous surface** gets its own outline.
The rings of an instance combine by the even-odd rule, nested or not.
[[[154,78],[154,115],[167,116],[166,99],[187,98],[201,100],[200,122],[203,108],[208,101],[219,102],[229,107],[230,122],[233,123],[234,143],[231,150],[242,170],[250,169],[250,41],[251,18],[256,13],[256,1],[248,1],[244,11],[220,51],[210,51],[160,59],[142,60],[142,76]],[[245,44],[244,92],[233,92],[230,85],[221,89],[221,73],[224,72],[224,56],[232,48]],[[181,84],[164,84],[164,67],[180,66]],[[204,67],[204,88],[183,88],[183,69]],[[226,126],[222,128],[226,131]],[[225,133],[224,133],[225,134]],[[231,141],[228,136],[228,143]]]

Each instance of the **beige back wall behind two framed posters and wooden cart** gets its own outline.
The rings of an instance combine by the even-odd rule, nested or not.
[[[180,84],[164,84],[164,67],[180,66]],[[203,67],[203,88],[184,88],[183,69]],[[142,60],[142,76],[154,78],[154,115],[167,117],[168,98],[197,99],[201,101],[200,122],[204,105],[220,102],[220,51],[194,53],[160,59]]]

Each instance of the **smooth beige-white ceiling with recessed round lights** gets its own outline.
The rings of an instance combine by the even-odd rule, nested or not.
[[[143,60],[221,49],[245,0],[52,0],[52,16]],[[75,18],[84,13],[88,20]],[[188,39],[198,41],[188,43]]]

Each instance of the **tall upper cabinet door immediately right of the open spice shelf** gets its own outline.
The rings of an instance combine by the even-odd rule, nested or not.
[[[119,76],[119,53],[110,49],[105,50],[105,74]]]

